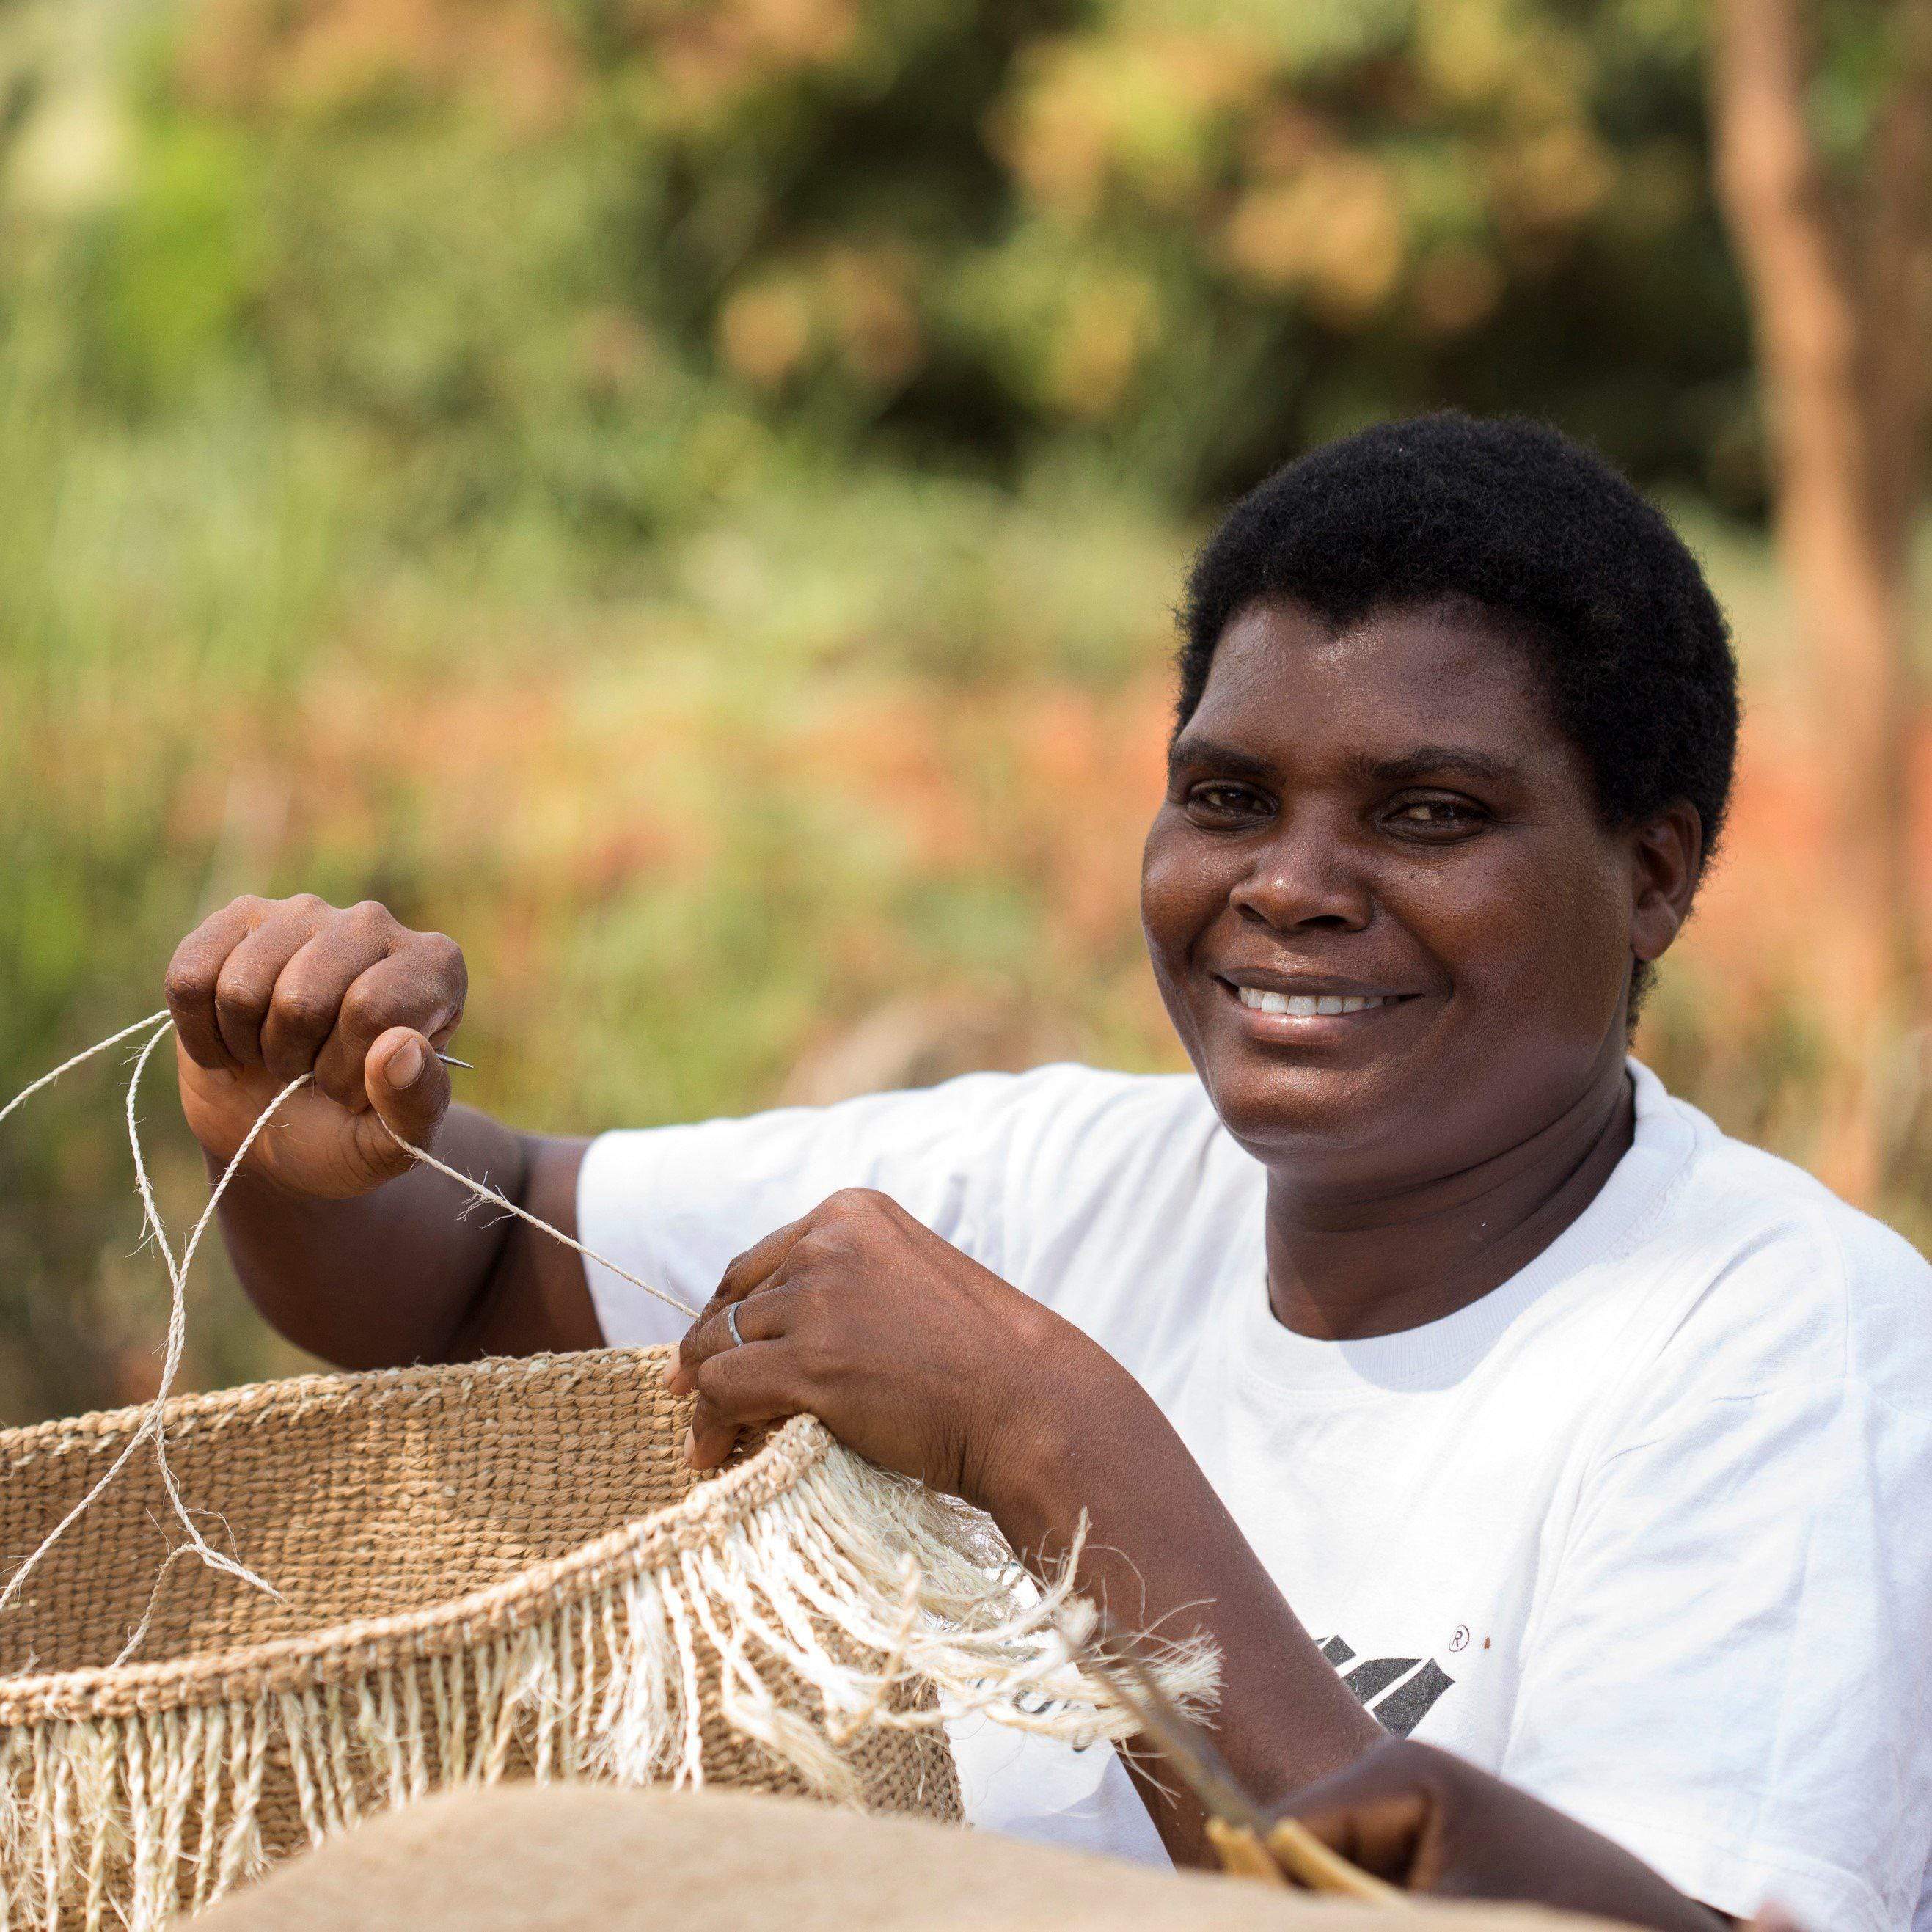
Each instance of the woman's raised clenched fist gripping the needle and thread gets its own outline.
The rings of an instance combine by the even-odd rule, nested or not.
[[[435,1049],[468,989],[454,939],[410,931],[373,900],[238,898],[168,964],[187,1124],[226,1165],[282,1088],[313,1072],[243,1171],[298,1196],[367,1194],[413,1165],[388,1128],[419,1148],[437,1132],[450,1076]]]

